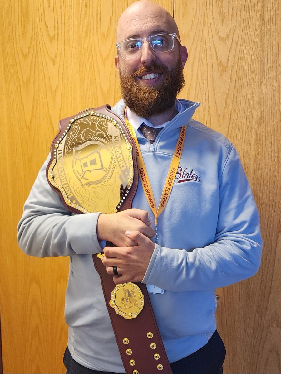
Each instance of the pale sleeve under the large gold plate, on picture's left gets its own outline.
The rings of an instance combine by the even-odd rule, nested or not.
[[[97,239],[100,213],[69,212],[46,179],[48,159],[24,204],[18,224],[18,244],[28,255],[37,257],[70,256],[102,252]]]

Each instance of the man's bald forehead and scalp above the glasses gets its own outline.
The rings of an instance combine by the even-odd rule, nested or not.
[[[117,41],[130,37],[147,37],[160,32],[178,33],[173,17],[157,4],[138,1],[121,15],[117,26]]]

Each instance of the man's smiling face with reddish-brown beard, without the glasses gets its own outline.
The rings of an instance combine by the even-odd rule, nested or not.
[[[118,24],[118,42],[130,37],[148,38],[157,33],[177,32],[173,20],[166,13],[161,14],[153,5],[150,9],[139,9],[123,18]],[[170,52],[154,52],[144,41],[141,53],[136,58],[124,59],[118,54],[115,66],[119,71],[125,103],[137,115],[145,118],[172,107],[184,84],[182,69],[186,59],[186,48],[177,40]]]

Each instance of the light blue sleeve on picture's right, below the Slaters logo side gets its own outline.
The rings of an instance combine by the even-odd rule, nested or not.
[[[262,253],[259,215],[233,146],[219,188],[214,243],[191,252],[155,245],[143,283],[167,291],[204,291],[242,281],[257,272]]]

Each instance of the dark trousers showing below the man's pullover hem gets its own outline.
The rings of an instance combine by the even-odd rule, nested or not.
[[[173,374],[223,374],[225,355],[226,349],[216,330],[205,346],[170,365]],[[66,374],[115,374],[85,368],[73,360],[68,348],[64,353],[63,363]]]

